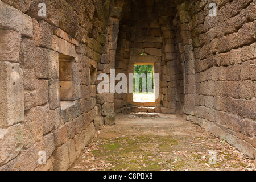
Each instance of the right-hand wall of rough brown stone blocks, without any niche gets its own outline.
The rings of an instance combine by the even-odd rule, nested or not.
[[[216,17],[209,16],[212,2]],[[251,159],[256,155],[255,18],[255,1],[234,0],[185,1],[174,19],[185,73],[181,110]]]

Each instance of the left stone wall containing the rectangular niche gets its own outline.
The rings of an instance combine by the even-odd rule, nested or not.
[[[46,17],[38,15],[39,3],[46,4]],[[0,1],[0,170],[68,169],[102,128],[97,68],[106,61],[114,7]],[[46,165],[38,163],[40,151]]]

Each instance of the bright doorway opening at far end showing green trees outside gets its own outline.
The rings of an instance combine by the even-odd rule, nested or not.
[[[154,64],[134,64],[134,102],[155,102]]]

